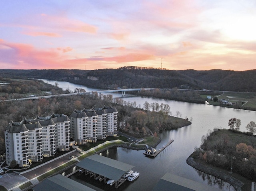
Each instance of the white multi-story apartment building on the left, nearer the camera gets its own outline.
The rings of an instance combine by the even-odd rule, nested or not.
[[[62,141],[63,140],[63,141]],[[52,114],[33,120],[11,122],[5,131],[6,163],[16,161],[20,167],[31,161],[42,161],[54,156],[56,148],[70,149],[70,119],[66,115]]]

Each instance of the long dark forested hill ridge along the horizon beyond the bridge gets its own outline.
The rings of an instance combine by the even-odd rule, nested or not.
[[[256,70],[165,70],[122,67],[99,70],[10,70],[0,69],[4,78],[37,78],[69,81],[103,89],[178,88],[256,92]]]

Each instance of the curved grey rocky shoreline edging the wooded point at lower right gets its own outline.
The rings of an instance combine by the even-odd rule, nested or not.
[[[194,159],[191,156],[188,157],[186,159],[186,161],[187,161],[187,164],[192,166],[193,168],[226,181],[227,183],[232,185],[236,191],[242,191],[241,187],[244,185],[244,183],[242,181],[240,181],[226,173],[223,173],[221,171],[218,171],[216,169],[213,169],[211,167],[208,167],[201,163],[198,163],[198,162],[194,161]]]

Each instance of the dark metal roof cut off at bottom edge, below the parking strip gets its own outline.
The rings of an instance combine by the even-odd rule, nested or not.
[[[64,177],[60,174],[52,176],[40,182],[34,188],[34,191],[95,191],[94,189],[82,185],[70,178]]]

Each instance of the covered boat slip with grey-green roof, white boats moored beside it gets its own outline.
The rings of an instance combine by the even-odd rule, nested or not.
[[[125,181],[124,174],[134,167],[98,154],[83,159],[76,166],[85,169],[86,174],[99,181],[104,180],[106,183],[109,179],[114,180],[116,188]]]

